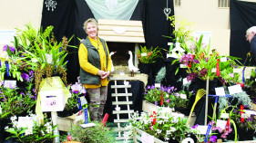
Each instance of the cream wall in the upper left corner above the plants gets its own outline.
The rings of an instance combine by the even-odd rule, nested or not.
[[[28,22],[39,28],[43,3],[43,0],[0,0],[0,31],[24,29]],[[2,48],[0,44],[1,52]]]

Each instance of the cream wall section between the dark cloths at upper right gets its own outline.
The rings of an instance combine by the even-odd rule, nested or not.
[[[194,23],[193,31],[211,32],[211,48],[220,55],[230,54],[230,9],[217,8],[218,0],[181,0],[174,8],[178,17]]]

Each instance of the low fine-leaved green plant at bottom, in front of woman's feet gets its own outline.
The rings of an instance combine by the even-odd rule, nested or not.
[[[72,128],[70,129],[70,135],[72,136],[72,139],[70,141],[78,141],[82,143],[115,142],[115,138],[113,137],[112,132],[108,128],[103,127],[101,123],[93,123],[95,123],[95,126],[88,128],[83,128],[78,124],[72,126]],[[67,141],[67,136],[64,136],[63,138],[66,138],[63,141]],[[67,141],[67,143],[71,142]]]

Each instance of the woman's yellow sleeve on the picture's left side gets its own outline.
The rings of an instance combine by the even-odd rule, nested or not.
[[[97,75],[97,67],[93,66],[90,62],[87,61],[88,54],[87,54],[87,47],[80,43],[79,50],[78,50],[78,58],[80,67],[91,74]]]

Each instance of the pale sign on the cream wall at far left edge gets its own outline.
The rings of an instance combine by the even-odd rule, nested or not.
[[[15,30],[0,30],[0,44],[11,44],[15,41]]]

